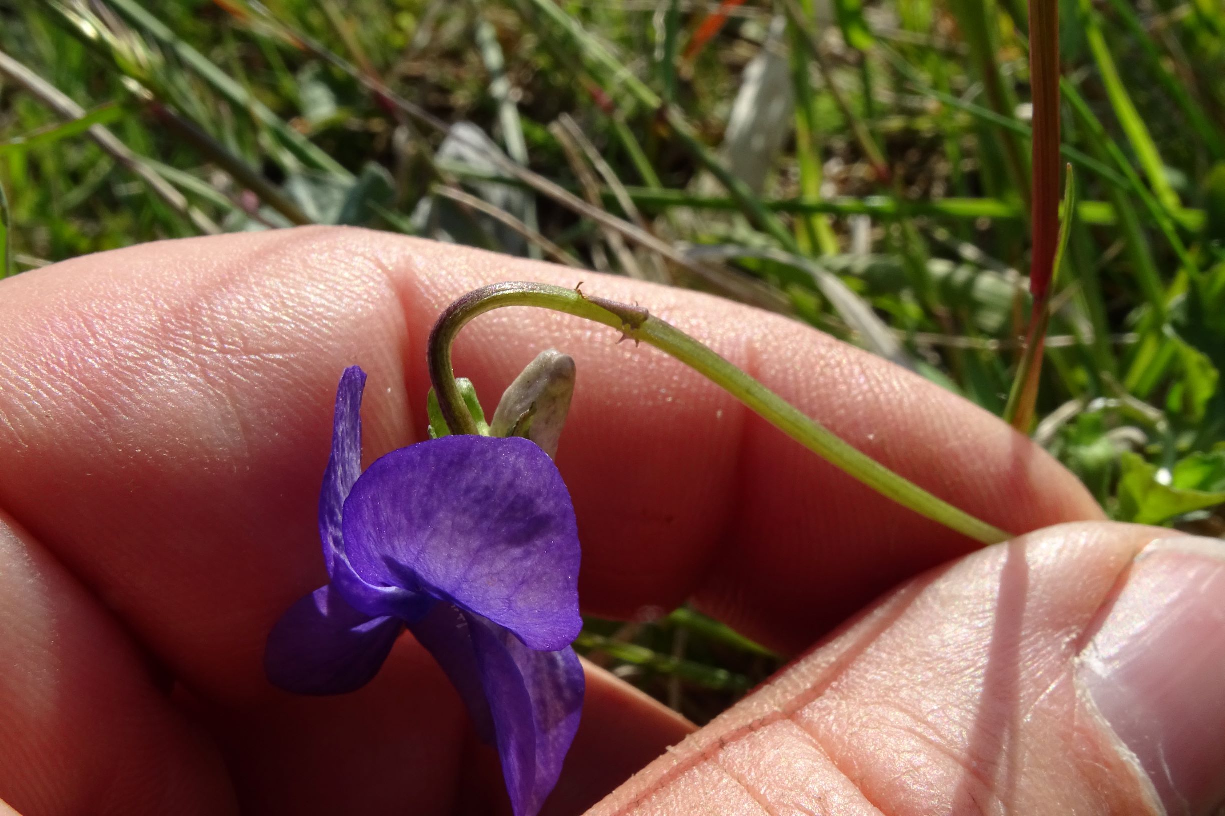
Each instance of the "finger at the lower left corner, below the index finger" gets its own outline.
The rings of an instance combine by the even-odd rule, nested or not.
[[[0,814],[236,812],[108,615],[0,513]]]

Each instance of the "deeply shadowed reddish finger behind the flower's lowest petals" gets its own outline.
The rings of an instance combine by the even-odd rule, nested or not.
[[[583,718],[546,816],[584,811],[693,730],[601,669],[584,669]],[[244,812],[511,812],[497,751],[477,739],[458,695],[410,637],[355,693],[183,702],[221,740]]]

